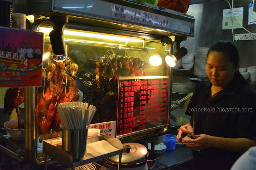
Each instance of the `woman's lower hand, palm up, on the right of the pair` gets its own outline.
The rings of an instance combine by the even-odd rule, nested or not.
[[[186,146],[188,146],[192,150],[202,150],[202,149],[208,149],[212,147],[212,136],[210,135],[195,135],[194,133],[191,134],[192,137],[195,139],[182,141],[182,143],[185,143]]]

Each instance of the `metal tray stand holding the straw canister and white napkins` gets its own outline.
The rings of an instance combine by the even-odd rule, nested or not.
[[[96,156],[93,158],[88,158],[86,160],[81,160],[77,162],[72,162],[72,159],[70,158],[70,155],[68,152],[62,149],[62,145],[52,145],[50,144],[50,141],[53,141],[55,139],[61,139],[61,137],[53,138],[53,139],[47,139],[43,141],[43,153],[45,154],[44,156],[44,170],[47,170],[47,156],[50,156],[56,160],[58,160],[60,163],[63,165],[70,167],[72,170],[74,170],[75,167],[81,166],[84,164],[88,164],[91,162],[96,162],[100,161],[104,158],[108,158],[111,156],[115,156],[119,154],[119,160],[122,160],[122,153],[124,153],[123,145],[122,143],[113,137],[110,137],[108,135],[101,134],[100,136],[97,137],[91,137],[87,139],[87,143],[93,143],[97,141],[102,141],[105,140],[110,145],[113,147],[116,147],[119,150],[116,150],[114,152],[110,152],[108,154],[102,154],[100,156]],[[121,149],[122,148],[122,149]],[[118,170],[121,169],[121,161],[118,162]]]

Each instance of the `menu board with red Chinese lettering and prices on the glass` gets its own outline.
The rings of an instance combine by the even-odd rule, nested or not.
[[[119,77],[117,136],[166,124],[168,78]]]

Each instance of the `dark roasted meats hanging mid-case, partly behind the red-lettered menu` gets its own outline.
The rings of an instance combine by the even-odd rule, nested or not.
[[[96,61],[96,66],[95,74],[90,72],[84,74],[83,102],[97,107],[91,123],[114,121],[117,116],[118,77],[148,76],[144,69],[149,64],[139,58],[113,54],[100,57]],[[139,101],[140,92],[134,91],[134,108],[140,105]]]

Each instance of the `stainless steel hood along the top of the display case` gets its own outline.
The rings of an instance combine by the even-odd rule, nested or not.
[[[27,15],[48,17],[58,12],[100,27],[132,30],[160,36],[194,37],[193,16],[126,0],[28,0]],[[91,22],[93,20],[93,22]],[[166,22],[167,21],[167,22]]]

